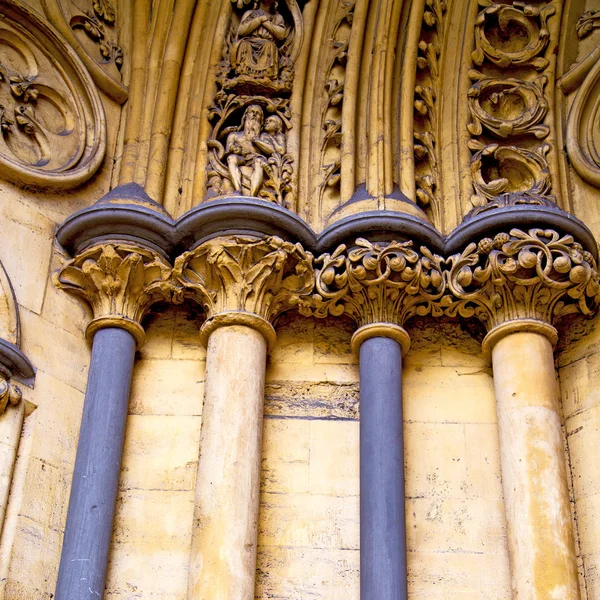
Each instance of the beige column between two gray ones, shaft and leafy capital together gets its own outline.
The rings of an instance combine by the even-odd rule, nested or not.
[[[314,286],[312,255],[277,237],[224,236],[175,261],[203,305],[206,384],[189,600],[254,598],[266,358],[272,322]]]

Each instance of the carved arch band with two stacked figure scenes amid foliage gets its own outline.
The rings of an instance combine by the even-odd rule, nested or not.
[[[289,95],[302,15],[295,0],[288,0],[285,11],[276,0],[248,4],[236,3],[217,69],[208,195],[237,193],[285,206],[293,173],[286,142]]]

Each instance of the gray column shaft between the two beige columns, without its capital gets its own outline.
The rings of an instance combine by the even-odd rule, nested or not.
[[[360,598],[407,598],[402,350],[385,337],[360,347]]]

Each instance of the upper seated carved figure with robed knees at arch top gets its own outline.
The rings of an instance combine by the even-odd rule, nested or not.
[[[237,75],[277,79],[279,49],[277,42],[286,36],[283,17],[273,8],[275,0],[260,0],[246,11],[237,31],[237,42],[231,48],[231,65]]]

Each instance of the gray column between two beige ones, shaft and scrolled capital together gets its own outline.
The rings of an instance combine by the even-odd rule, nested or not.
[[[414,315],[441,315],[443,260],[412,242],[358,239],[317,260],[317,317],[346,314],[360,356],[360,597],[405,600],[406,520],[402,422],[403,328]]]

